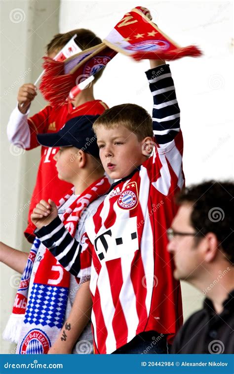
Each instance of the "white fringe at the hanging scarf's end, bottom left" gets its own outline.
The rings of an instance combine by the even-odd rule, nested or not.
[[[18,343],[21,328],[23,326],[24,314],[11,314],[4,331],[2,332],[2,337],[4,340],[9,340],[12,343]]]

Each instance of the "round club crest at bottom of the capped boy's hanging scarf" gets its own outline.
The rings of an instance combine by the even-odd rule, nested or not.
[[[46,333],[39,328],[30,330],[24,337],[20,349],[20,355],[46,354],[51,347],[50,340]]]

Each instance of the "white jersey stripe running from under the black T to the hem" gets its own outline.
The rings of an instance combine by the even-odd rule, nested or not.
[[[111,293],[111,284],[110,278],[108,275],[108,270],[106,267],[106,263],[103,261],[102,263],[102,271],[99,273],[97,287],[100,290],[100,304],[103,319],[105,322],[105,326],[107,328],[107,339],[106,339],[106,346],[107,349],[111,349],[111,351],[107,353],[112,353],[116,350],[116,338],[114,334],[114,329],[112,325],[112,321],[115,315],[116,308],[113,303],[112,293]],[[101,292],[101,290],[105,290]],[[108,313],[106,313],[108,311]]]

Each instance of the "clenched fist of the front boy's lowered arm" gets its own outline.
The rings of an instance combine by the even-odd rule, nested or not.
[[[57,207],[51,199],[48,200],[48,203],[45,200],[40,200],[31,214],[31,220],[37,228],[41,228],[52,222],[57,215]]]

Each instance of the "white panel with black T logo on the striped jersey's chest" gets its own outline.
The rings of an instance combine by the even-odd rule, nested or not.
[[[136,217],[119,219],[107,231],[99,232],[94,248],[100,262],[132,255],[139,249]]]

